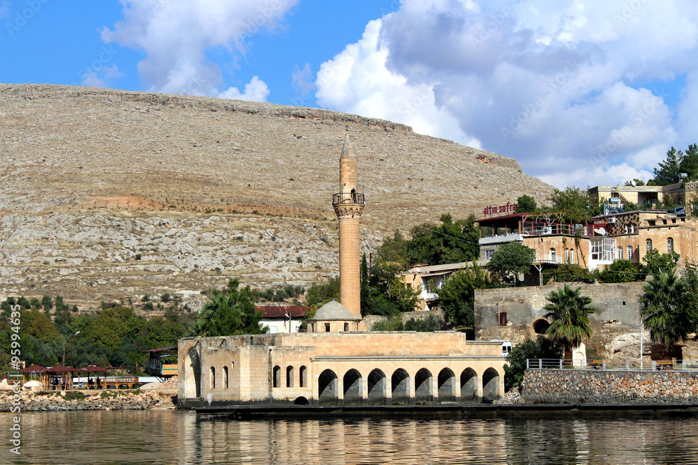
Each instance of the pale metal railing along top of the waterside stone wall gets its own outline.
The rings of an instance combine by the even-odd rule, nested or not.
[[[559,358],[527,358],[526,369],[599,369],[602,371],[666,371],[698,372],[695,360],[563,360]]]

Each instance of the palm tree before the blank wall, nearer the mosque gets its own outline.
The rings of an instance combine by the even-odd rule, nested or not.
[[[546,331],[547,335],[562,342],[565,359],[572,358],[572,347],[578,346],[584,337],[591,337],[589,314],[596,311],[591,307],[591,297],[581,296],[581,287],[572,289],[569,285],[545,296],[550,301],[543,310],[546,318],[553,320]]]

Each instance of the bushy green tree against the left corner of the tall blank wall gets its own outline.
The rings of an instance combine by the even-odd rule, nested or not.
[[[456,271],[438,290],[439,306],[452,326],[475,325],[475,289],[487,289],[492,281],[487,270],[474,266]]]

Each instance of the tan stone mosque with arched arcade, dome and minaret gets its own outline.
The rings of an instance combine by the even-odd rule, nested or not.
[[[179,406],[385,406],[481,402],[504,392],[500,342],[464,333],[370,332],[361,316],[359,223],[366,199],[347,135],[332,206],[340,300],[307,333],[179,340]]]

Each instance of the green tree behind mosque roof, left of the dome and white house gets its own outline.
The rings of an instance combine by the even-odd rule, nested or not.
[[[262,312],[255,312],[250,287],[238,289],[239,280],[228,281],[224,292],[214,289],[201,310],[198,333],[202,336],[262,334]]]

